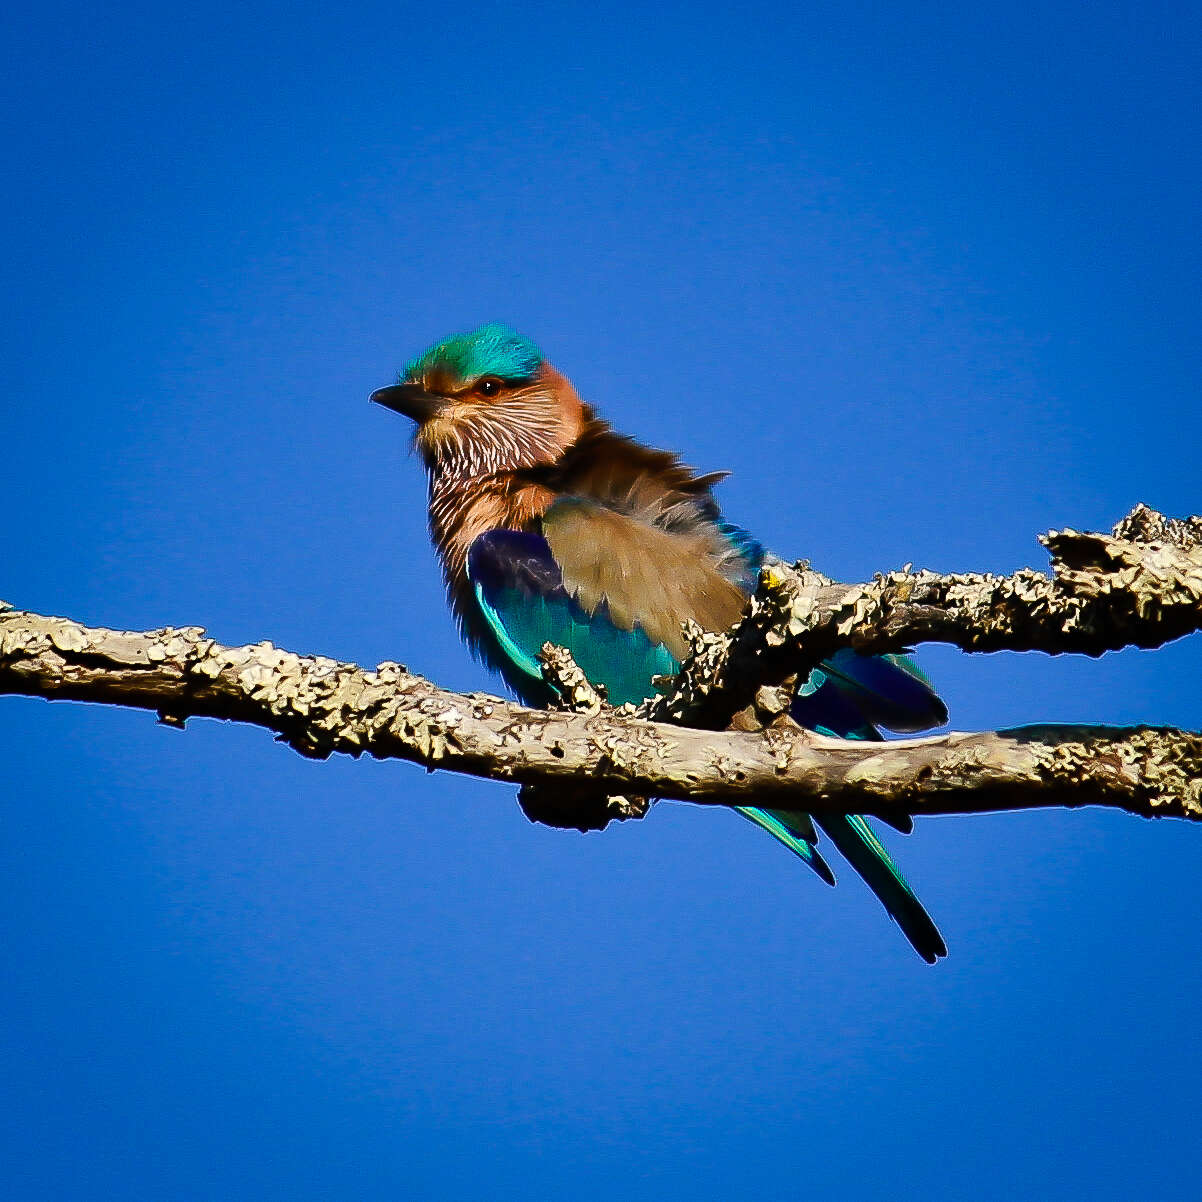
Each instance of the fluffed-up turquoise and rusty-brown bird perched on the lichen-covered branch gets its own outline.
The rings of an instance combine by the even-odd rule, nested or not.
[[[565,647],[612,704],[637,703],[679,671],[688,619],[725,631],[742,615],[767,551],[722,514],[714,489],[726,472],[701,474],[614,430],[510,326],[435,343],[370,399],[415,423],[451,611],[523,703],[554,701],[537,659],[545,643]],[[909,656],[852,650],[815,668],[790,713],[850,739],[947,720]],[[915,951],[932,964],[947,954],[867,819],[736,809],[834,885],[821,828]]]

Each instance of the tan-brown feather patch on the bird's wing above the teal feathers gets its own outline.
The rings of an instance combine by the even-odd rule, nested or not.
[[[584,498],[557,501],[543,516],[543,536],[564,575],[564,587],[590,613],[605,601],[624,630],[639,625],[653,642],[683,659],[680,624],[691,618],[704,630],[726,630],[743,613],[746,596],[724,575],[730,547],[709,522],[670,529],[654,510],[619,512]]]

